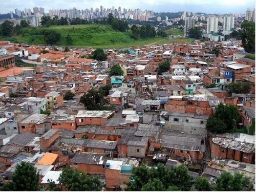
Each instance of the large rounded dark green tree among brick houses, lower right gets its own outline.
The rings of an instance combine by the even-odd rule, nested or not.
[[[239,127],[240,116],[236,106],[220,103],[216,111],[206,123],[207,131],[212,133],[226,133],[236,131]]]

